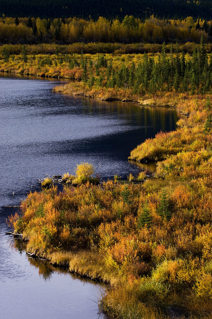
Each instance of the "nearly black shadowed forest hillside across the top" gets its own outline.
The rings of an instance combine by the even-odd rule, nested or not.
[[[187,0],[0,0],[0,15],[16,17],[58,18],[84,17],[98,19],[104,16],[113,19],[116,16],[123,19],[125,15],[137,18],[150,17],[187,17],[198,16],[211,19],[211,1]]]

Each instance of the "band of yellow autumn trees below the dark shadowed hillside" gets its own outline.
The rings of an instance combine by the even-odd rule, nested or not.
[[[35,44],[76,42],[148,42],[162,44],[171,42],[199,43],[212,40],[212,21],[193,19],[135,19],[125,16],[123,20],[62,18],[0,18],[1,44]]]

